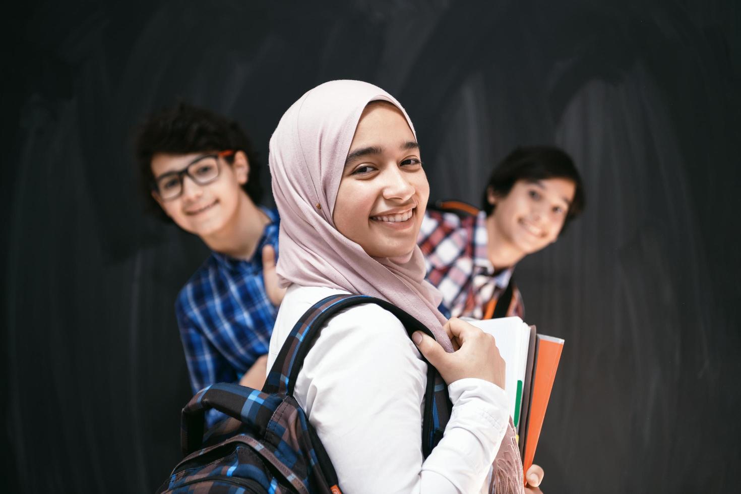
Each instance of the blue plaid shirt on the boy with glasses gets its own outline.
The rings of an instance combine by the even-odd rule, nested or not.
[[[175,313],[193,393],[217,382],[237,382],[268,353],[277,307],[265,293],[262,247],[278,252],[278,211],[248,261],[212,252],[180,290]],[[207,415],[209,425],[223,415]]]

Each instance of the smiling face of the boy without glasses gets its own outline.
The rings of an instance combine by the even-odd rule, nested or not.
[[[565,178],[518,180],[505,197],[488,193],[495,204],[495,235],[527,256],[553,243],[561,233],[576,186]]]

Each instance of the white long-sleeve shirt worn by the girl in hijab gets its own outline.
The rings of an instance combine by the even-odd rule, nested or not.
[[[270,338],[268,369],[326,287],[289,287]],[[504,390],[465,378],[448,386],[445,435],[422,458],[427,364],[402,323],[376,304],[350,307],[322,330],[299,372],[294,397],[332,460],[339,487],[356,493],[488,492],[491,464],[508,424]]]

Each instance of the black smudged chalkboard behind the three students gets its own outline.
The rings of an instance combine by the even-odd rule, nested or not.
[[[173,302],[206,256],[142,213],[131,128],[184,98],[268,138],[362,79],[416,124],[432,196],[517,144],[588,208],[517,278],[566,340],[546,493],[705,493],[741,461],[740,10],[674,1],[27,2],[4,30],[4,492],[147,493],[190,396]],[[263,177],[268,184],[268,173]]]

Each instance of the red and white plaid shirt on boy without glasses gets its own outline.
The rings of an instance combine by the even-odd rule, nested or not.
[[[483,211],[464,217],[436,210],[425,214],[419,248],[425,255],[428,281],[440,290],[442,304],[452,317],[484,318],[489,301],[499,298],[510,282],[514,267],[495,274],[487,242]],[[522,295],[516,287],[505,314],[525,315]]]

